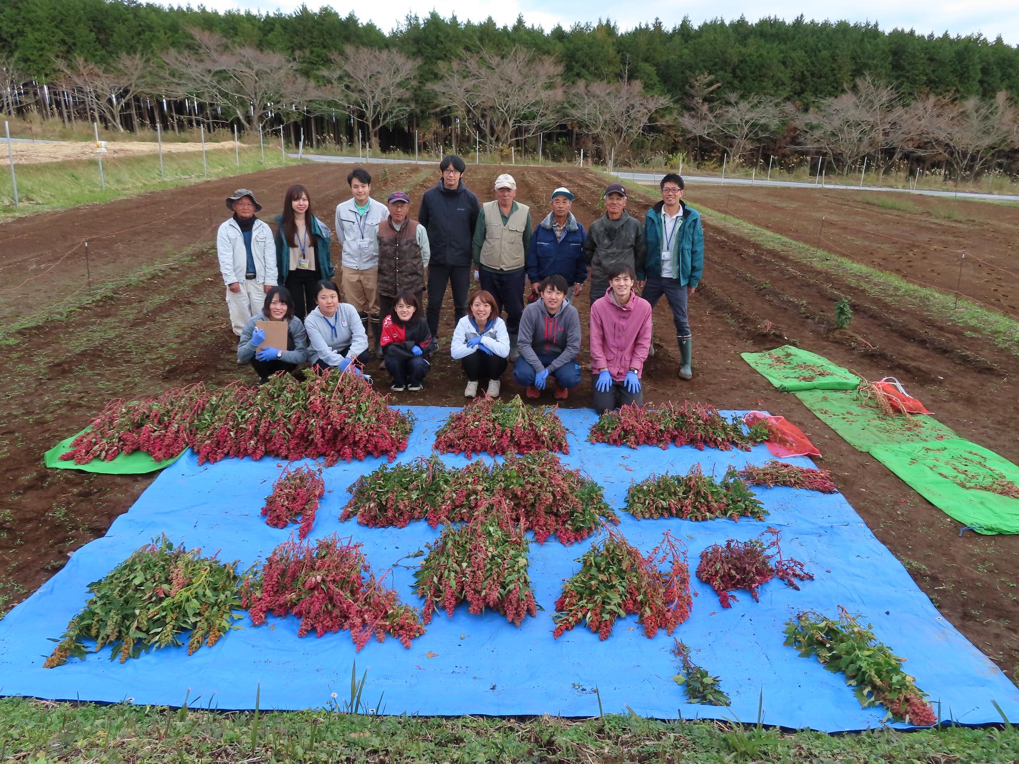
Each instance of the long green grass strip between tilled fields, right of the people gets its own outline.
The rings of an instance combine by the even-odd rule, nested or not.
[[[999,347],[1019,356],[1019,322],[997,311],[970,303],[964,297],[959,297],[956,304],[953,294],[918,286],[894,273],[826,250],[818,250],[701,205],[697,205],[697,210],[702,215],[707,213],[711,223],[722,230],[744,236],[761,247],[791,255],[819,271],[848,279],[871,296],[906,305],[917,312],[932,315],[940,321],[971,329],[979,336],[989,336]]]

